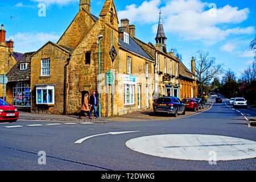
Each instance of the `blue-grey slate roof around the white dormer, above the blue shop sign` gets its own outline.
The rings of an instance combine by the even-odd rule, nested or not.
[[[138,55],[141,55],[143,57],[146,57],[147,59],[152,60],[152,58],[129,36],[129,44],[123,42],[122,39],[119,38],[119,44],[122,48],[127,49],[128,51],[137,53]]]

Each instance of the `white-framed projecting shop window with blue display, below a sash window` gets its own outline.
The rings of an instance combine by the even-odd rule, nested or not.
[[[54,104],[54,86],[37,87],[36,104]]]

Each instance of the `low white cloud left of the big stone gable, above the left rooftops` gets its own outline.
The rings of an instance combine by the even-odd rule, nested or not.
[[[14,51],[21,53],[37,51],[49,40],[57,42],[59,38],[60,36],[56,35],[54,32],[49,34],[44,32],[19,32],[15,35]],[[10,37],[9,39],[13,39],[13,37]]]

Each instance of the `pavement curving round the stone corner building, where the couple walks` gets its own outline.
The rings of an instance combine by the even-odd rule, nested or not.
[[[189,117],[194,114],[199,114],[205,110],[208,110],[212,106],[212,102],[205,104],[205,109],[193,112],[187,111],[186,115],[179,114],[177,118],[172,117],[168,114],[154,115],[153,110],[139,111],[135,113],[125,114],[121,116],[114,116],[110,118],[94,118],[89,119],[88,117],[82,117],[79,119],[77,115],[58,115],[58,114],[31,114],[25,111],[19,111],[19,119],[33,120],[33,121],[57,121],[57,122],[95,122],[95,123],[106,123],[106,122],[131,122],[131,121],[156,121],[156,120],[169,120],[169,119],[180,119]]]

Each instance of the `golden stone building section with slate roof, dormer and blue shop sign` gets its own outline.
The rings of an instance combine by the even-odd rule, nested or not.
[[[135,26],[121,20],[118,49],[118,114],[152,109],[154,57],[135,39]]]

